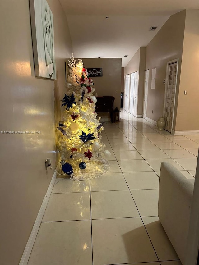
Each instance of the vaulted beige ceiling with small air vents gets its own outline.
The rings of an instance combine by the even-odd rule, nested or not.
[[[153,39],[169,16],[199,9],[198,0],[59,1],[67,15],[74,56],[121,57],[122,67]],[[157,29],[150,31],[151,26]]]

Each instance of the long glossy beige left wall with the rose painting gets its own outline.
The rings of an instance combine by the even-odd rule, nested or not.
[[[59,1],[48,2],[54,17],[55,82],[34,75],[29,1],[1,2],[1,131],[41,131],[0,134],[1,265],[19,263],[53,174],[48,171],[46,176],[45,159],[51,157],[55,166],[54,101],[58,120],[64,61],[72,53],[72,43]]]

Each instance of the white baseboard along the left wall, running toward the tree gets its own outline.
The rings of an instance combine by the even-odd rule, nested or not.
[[[58,169],[59,162],[57,164],[56,170]],[[48,203],[49,198],[50,198],[50,194],[51,194],[51,192],[53,190],[53,186],[55,184],[56,176],[57,176],[57,173],[54,172],[52,180],[51,180],[51,182],[49,184],[48,190],[47,190],[47,192],[46,192],[46,194],[44,196],[43,202],[42,202],[41,207],[39,209],[39,213],[37,215],[37,218],[35,220],[34,226],[32,228],[30,237],[29,237],[28,242],[27,242],[27,244],[25,246],[24,253],[23,253],[22,257],[21,257],[19,265],[27,265],[27,263],[28,263],[28,260],[30,258],[30,253],[31,253],[33,245],[35,243],[35,239],[36,239],[37,233],[39,231],[39,227],[40,227],[42,218],[44,216],[44,212],[45,212],[47,203]]]

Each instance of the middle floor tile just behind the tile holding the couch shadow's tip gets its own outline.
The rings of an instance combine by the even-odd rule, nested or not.
[[[129,190],[91,192],[92,219],[139,217]]]

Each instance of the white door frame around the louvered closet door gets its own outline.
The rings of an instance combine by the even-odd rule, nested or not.
[[[179,59],[174,59],[169,62],[167,62],[167,68],[166,68],[166,83],[164,88],[164,106],[163,106],[163,117],[165,117],[166,112],[166,100],[167,100],[167,91],[168,91],[168,81],[169,81],[169,65],[172,63],[177,62],[177,71],[176,71],[176,82],[175,82],[175,97],[176,97],[176,85],[177,85],[177,79],[178,79],[178,61]],[[174,112],[175,112],[175,97],[174,97]],[[174,112],[172,117],[172,126],[171,126],[171,132],[173,132],[173,124],[174,124]]]

